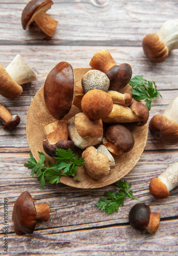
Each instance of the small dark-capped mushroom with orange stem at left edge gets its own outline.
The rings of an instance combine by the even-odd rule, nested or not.
[[[17,115],[12,116],[8,109],[0,103],[0,117],[5,121],[3,129],[5,131],[13,131],[20,123],[20,117]]]

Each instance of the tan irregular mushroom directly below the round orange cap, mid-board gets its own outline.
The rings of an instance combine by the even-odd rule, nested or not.
[[[79,148],[97,145],[103,139],[103,122],[78,113],[67,122],[69,138]]]

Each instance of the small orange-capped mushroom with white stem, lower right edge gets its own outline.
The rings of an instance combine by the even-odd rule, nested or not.
[[[178,162],[164,170],[158,178],[153,178],[149,184],[152,196],[163,199],[169,196],[169,191],[178,186]]]

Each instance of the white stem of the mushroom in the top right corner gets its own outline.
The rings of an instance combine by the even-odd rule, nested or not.
[[[178,19],[170,19],[159,29],[157,35],[165,42],[168,51],[178,48]]]

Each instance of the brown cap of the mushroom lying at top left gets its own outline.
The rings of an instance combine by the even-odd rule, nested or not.
[[[27,29],[34,21],[35,16],[40,12],[46,12],[53,5],[52,0],[32,0],[24,7],[21,14],[21,25]]]

